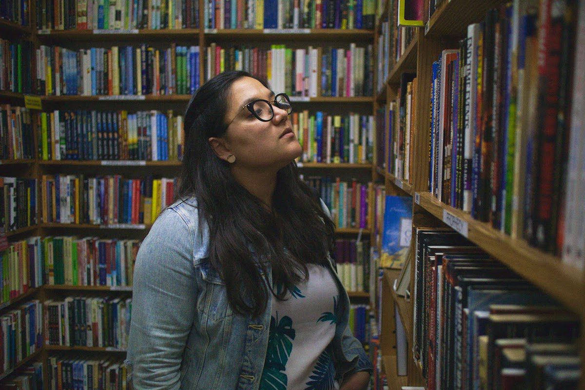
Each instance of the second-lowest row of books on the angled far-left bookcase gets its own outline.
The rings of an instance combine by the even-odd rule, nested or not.
[[[15,368],[42,346],[43,304],[38,299],[23,303],[0,316],[0,367]]]

